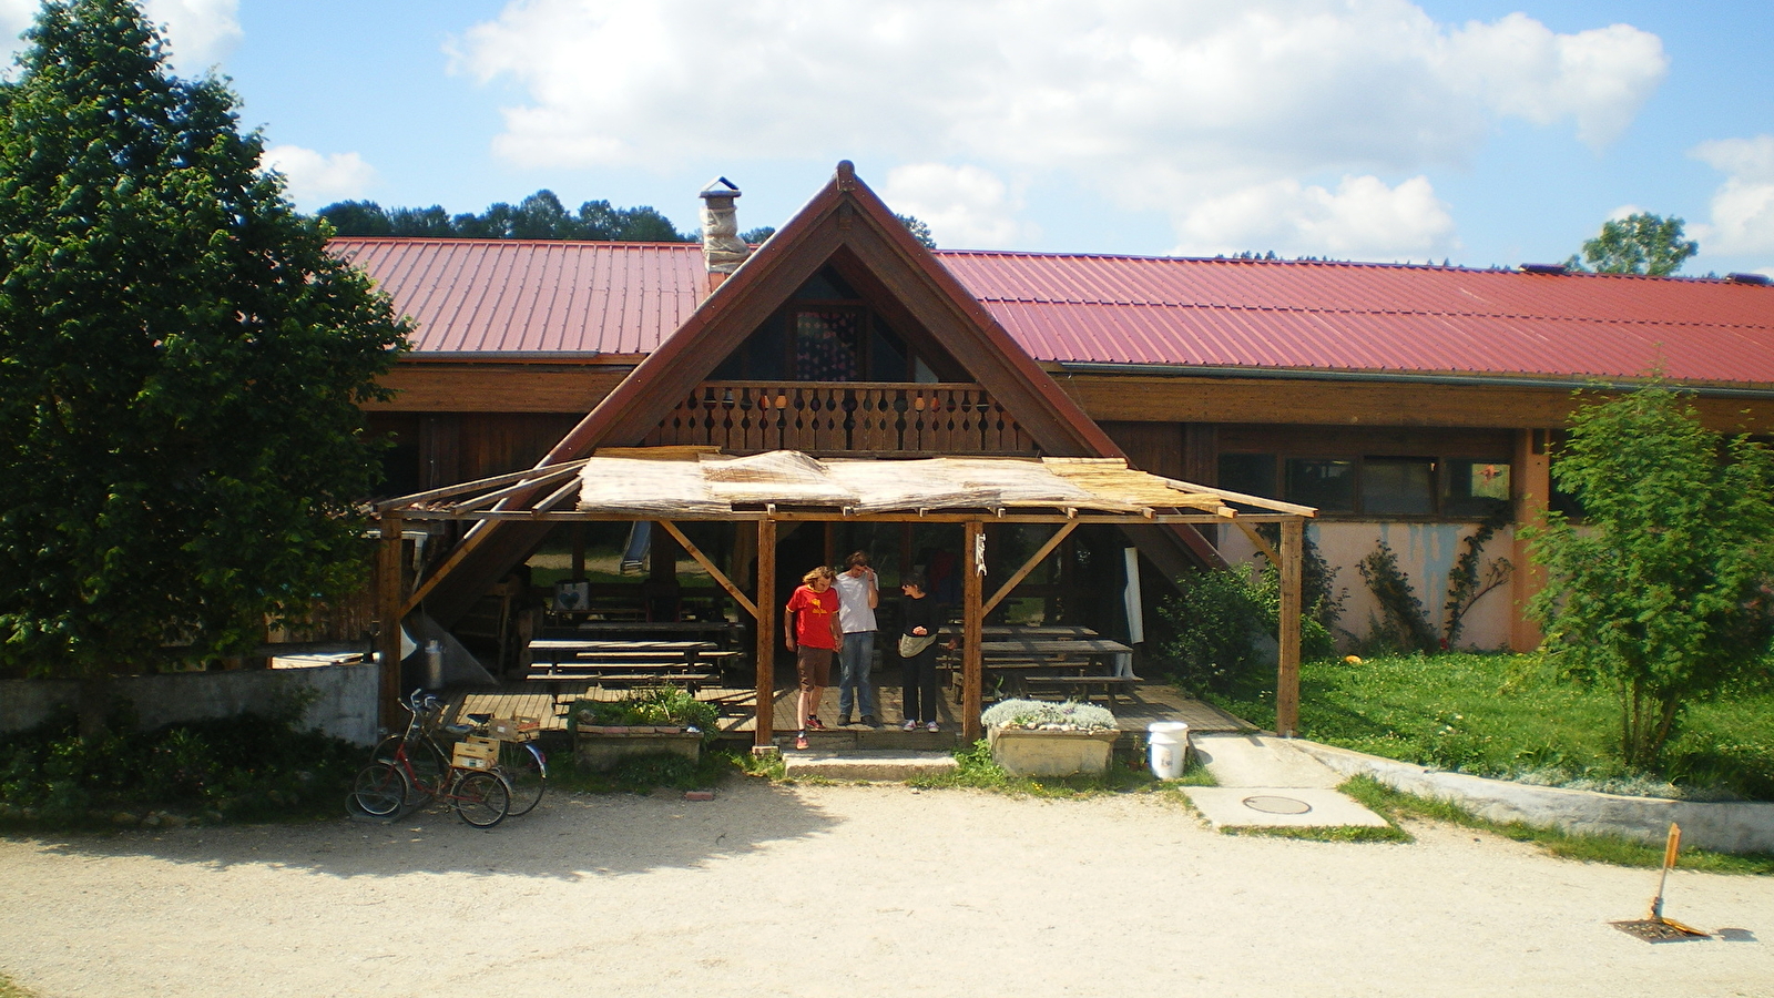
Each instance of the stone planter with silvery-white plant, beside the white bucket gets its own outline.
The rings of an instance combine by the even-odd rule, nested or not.
[[[1011,776],[1073,776],[1109,769],[1121,737],[1114,714],[1095,703],[1004,700],[979,716],[992,760]]]

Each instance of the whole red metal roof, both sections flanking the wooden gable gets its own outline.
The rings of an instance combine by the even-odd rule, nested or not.
[[[695,243],[335,240],[422,355],[648,353]],[[938,250],[1036,360],[1774,384],[1774,288],[1366,263]]]

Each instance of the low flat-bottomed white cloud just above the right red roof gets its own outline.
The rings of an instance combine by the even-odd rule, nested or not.
[[[1354,259],[1428,259],[1458,247],[1448,204],[1426,178],[1387,186],[1346,176],[1338,188],[1293,179],[1247,186],[1192,206],[1176,220],[1183,256],[1276,250]]]

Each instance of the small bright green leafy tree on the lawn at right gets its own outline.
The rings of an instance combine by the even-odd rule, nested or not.
[[[1774,455],[1721,440],[1666,385],[1582,407],[1552,476],[1584,510],[1527,536],[1549,659],[1620,696],[1621,755],[1653,767],[1684,705],[1763,669],[1774,636]]]

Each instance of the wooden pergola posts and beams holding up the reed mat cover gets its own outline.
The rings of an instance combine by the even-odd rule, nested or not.
[[[376,504],[380,513],[381,552],[378,558],[378,620],[381,622],[378,641],[381,652],[381,700],[383,721],[392,725],[399,709],[399,662],[401,662],[401,627],[399,620],[415,609],[408,602],[408,593],[401,572],[401,529],[406,520],[456,520],[481,524],[495,520],[522,520],[536,524],[571,524],[571,522],[656,522],[676,540],[685,552],[701,565],[710,577],[734,598],[734,602],[756,620],[754,662],[757,673],[757,719],[754,744],[757,748],[773,744],[775,710],[775,648],[777,648],[777,611],[775,607],[775,540],[781,522],[887,522],[887,524],[962,524],[963,527],[963,586],[962,586],[962,733],[970,742],[981,735],[981,629],[985,614],[1001,604],[1009,593],[1040,566],[1059,543],[1079,526],[1238,526],[1265,558],[1281,568],[1281,622],[1277,627],[1277,671],[1276,671],[1276,732],[1293,737],[1299,728],[1299,664],[1300,664],[1300,561],[1304,554],[1304,524],[1316,515],[1316,510],[1226,492],[1219,488],[1189,485],[1194,494],[1208,494],[1224,503],[1256,506],[1256,513],[1247,513],[1219,506],[1215,511],[1160,511],[1144,508],[1132,513],[1056,508],[1052,511],[1031,511],[1029,508],[979,508],[979,510],[903,510],[882,513],[855,513],[843,508],[784,508],[763,504],[761,508],[743,508],[722,513],[695,513],[690,510],[674,511],[669,517],[660,513],[635,513],[617,510],[573,508],[559,510],[566,497],[578,485],[577,472],[585,458],[543,465],[529,471],[483,478],[445,488],[433,488],[413,495],[403,495]],[[548,490],[548,485],[564,483]],[[513,495],[538,495],[530,508],[498,508]],[[678,527],[678,522],[731,522],[757,524],[757,579],[752,600],[745,591],[720,570],[699,547],[695,547]],[[1056,527],[1047,540],[1002,586],[986,595],[985,550],[986,524],[1050,524]],[[1267,543],[1254,529],[1254,524],[1281,524],[1281,549]],[[390,623],[392,622],[392,623]]]

